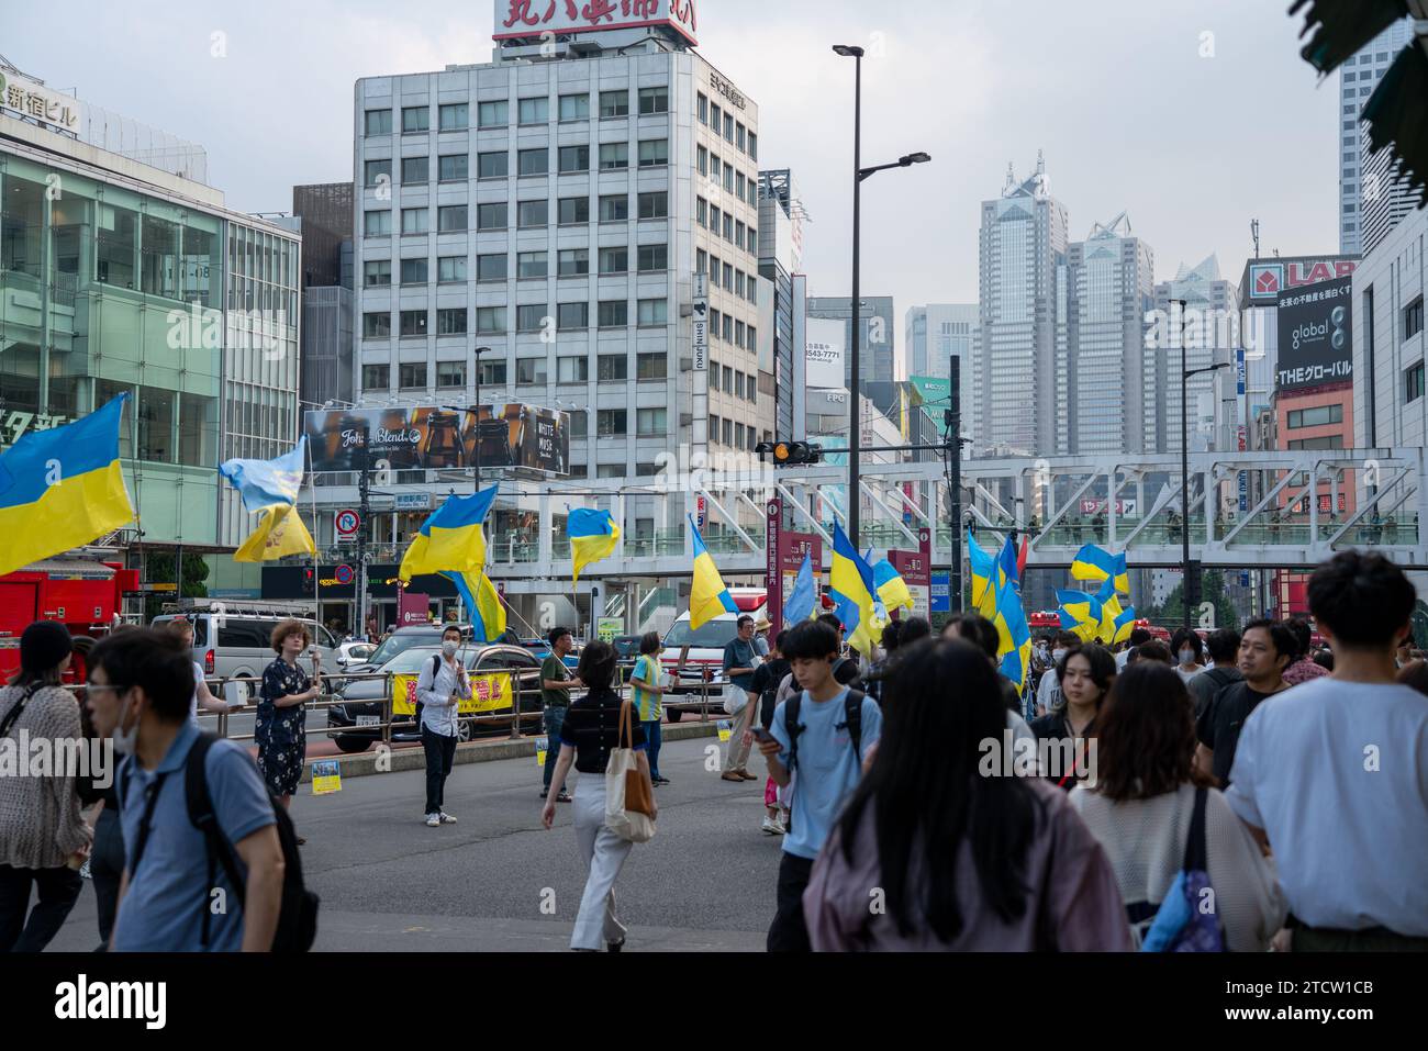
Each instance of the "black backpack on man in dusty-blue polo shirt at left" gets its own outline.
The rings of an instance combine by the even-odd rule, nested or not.
[[[244,905],[247,887],[238,875],[238,858],[223,830],[218,828],[218,818],[213,813],[213,795],[208,793],[208,771],[206,760],[208,748],[220,740],[216,734],[198,734],[198,740],[188,750],[184,761],[184,800],[188,808],[188,821],[203,833],[208,854],[208,887],[216,885],[217,865],[223,865],[224,874],[234,894],[238,895],[238,905]],[[124,795],[129,795],[130,765],[124,765]],[[129,865],[129,878],[134,878],[139,871],[139,861],[144,854],[144,844],[149,840],[149,824],[154,815],[154,804],[159,801],[157,788],[149,797],[144,818],[139,825],[139,843],[134,845],[134,858]],[[273,817],[277,824],[277,840],[283,848],[283,895],[278,904],[277,930],[273,932],[274,952],[307,952],[317,937],[317,905],[318,897],[303,884],[303,858],[297,850],[297,833],[293,828],[293,818],[287,808],[271,794],[268,801],[273,805]],[[208,947],[208,898],[203,904],[203,940]]]

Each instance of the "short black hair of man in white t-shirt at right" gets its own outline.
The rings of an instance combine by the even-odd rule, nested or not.
[[[1309,613],[1344,645],[1392,645],[1417,601],[1404,571],[1377,553],[1341,551],[1309,577]]]

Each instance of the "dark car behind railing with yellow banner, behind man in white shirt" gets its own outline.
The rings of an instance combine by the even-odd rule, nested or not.
[[[441,648],[436,645],[407,647],[381,665],[381,678],[348,681],[340,691],[337,703],[327,710],[327,735],[334,738],[344,753],[366,751],[373,743],[383,740],[381,717],[388,688],[386,674],[420,675],[421,667],[440,653]],[[520,645],[480,645],[466,650],[464,663],[474,675],[514,670],[520,683],[521,725],[540,728],[540,660],[534,654]],[[474,737],[510,733],[513,715],[510,705],[480,714],[506,715],[506,718],[480,723],[463,718],[457,725],[458,740],[470,741]],[[391,740],[420,741],[421,727],[416,715],[393,715]]]

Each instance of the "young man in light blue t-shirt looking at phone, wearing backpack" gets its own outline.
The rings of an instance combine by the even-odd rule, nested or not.
[[[883,730],[877,703],[834,678],[838,633],[808,621],[791,628],[781,647],[803,690],[778,704],[758,750],[774,784],[798,775],[791,827],[778,867],[778,912],[768,928],[770,952],[808,952],[803,892],[844,800],[863,775],[863,760]]]

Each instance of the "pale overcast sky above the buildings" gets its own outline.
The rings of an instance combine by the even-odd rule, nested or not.
[[[697,0],[700,51],[760,106],[760,164],[791,167],[811,217],[810,291],[850,286],[853,63],[864,294],[974,303],[980,201],[1045,151],[1071,238],[1127,211],[1155,277],[1218,253],[1338,251],[1338,79],[1299,59],[1287,0]],[[208,151],[246,211],[348,180],[353,81],[487,61],[491,0],[60,0],[4,4],[0,51],[81,100]],[[223,33],[224,57],[214,57]],[[1212,36],[1211,36],[1212,34]],[[1202,57],[1212,53],[1212,57]],[[901,331],[898,331],[901,346]]]

